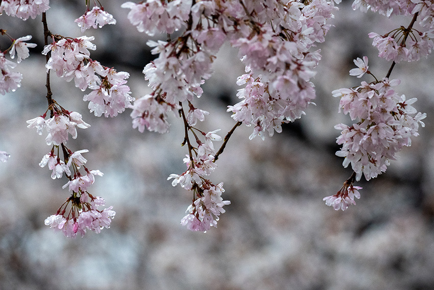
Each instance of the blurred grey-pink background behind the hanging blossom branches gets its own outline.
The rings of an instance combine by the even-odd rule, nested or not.
[[[141,71],[153,56],[122,3],[103,2],[115,26],[84,34],[95,36],[91,58],[129,72],[132,95],[139,98],[149,92]],[[83,35],[74,19],[84,13],[84,1],[52,1],[51,7],[52,33]],[[0,150],[11,154],[0,164],[0,289],[434,289],[433,57],[398,64],[392,73],[401,79],[397,91],[417,97],[415,107],[428,114],[421,136],[385,174],[357,183],[363,187],[357,206],[334,211],[322,198],[337,192],[351,170],[334,155],[339,131],[333,126],[350,120],[337,113],[339,100],[331,91],[359,84],[348,75],[356,57],[367,55],[370,71],[385,76],[390,63],[377,57],[367,34],[407,26],[409,19],[353,11],[344,1],[333,21],[313,79],[317,106],[265,141],[249,141],[252,128],[235,130],[211,175],[214,183],[224,182],[231,205],[218,228],[205,234],[180,225],[191,194],[166,181],[185,170],[180,119],[172,117],[166,135],[139,133],[132,129],[131,110],[113,119],[94,117],[82,101],[87,92],[52,75],[54,99],[91,124],[68,147],[89,150],[88,168],[105,173],[90,193],[116,211],[110,229],[70,240],[43,223],[68,197],[66,179],[52,180],[50,170],[39,167],[51,148],[26,123],[46,109],[40,16],[0,16],[0,28],[15,38],[31,34],[30,42],[38,44],[16,68],[22,86],[0,96]],[[0,41],[2,50],[10,44],[6,37]],[[224,136],[234,125],[226,106],[238,102],[235,80],[244,67],[225,46],[214,70],[196,104],[210,112],[200,127],[221,128]]]

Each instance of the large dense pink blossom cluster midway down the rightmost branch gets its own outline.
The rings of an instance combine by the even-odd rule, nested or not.
[[[412,106],[416,98],[405,99],[392,88],[399,80],[361,82],[355,88],[340,88],[332,92],[340,97],[340,110],[351,120],[352,126],[336,125],[341,130],[337,144],[342,145],[336,155],[344,157],[344,166],[351,163],[356,180],[362,174],[370,180],[387,169],[390,160],[403,146],[411,145],[411,137],[418,136],[419,124],[426,117]]]

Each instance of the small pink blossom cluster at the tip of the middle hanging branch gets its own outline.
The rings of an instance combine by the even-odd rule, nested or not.
[[[223,206],[229,205],[228,200],[223,200],[223,183],[214,185],[206,176],[214,171],[214,155],[216,153],[212,141],[220,141],[222,138],[216,134],[219,130],[208,133],[201,132],[205,138],[202,143],[196,137],[197,147],[191,148],[196,153],[196,157],[187,155],[184,163],[187,170],[181,175],[171,174],[169,179],[174,179],[172,185],[193,191],[194,198],[192,204],[187,208],[187,215],[181,220],[181,225],[186,226],[191,231],[206,232],[210,227],[216,227],[219,215],[224,213]],[[190,146],[190,145],[189,145]]]

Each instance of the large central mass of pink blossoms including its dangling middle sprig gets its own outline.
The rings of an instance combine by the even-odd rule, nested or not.
[[[251,138],[263,138],[263,131],[272,136],[274,131],[281,132],[282,123],[300,118],[315,98],[310,78],[321,58],[319,50],[309,49],[324,41],[331,27],[328,20],[337,9],[333,1],[325,0],[147,0],[122,7],[130,9],[131,24],[149,36],[185,29],[174,40],[148,42],[152,53],[158,55],[143,70],[153,92],[134,102],[131,117],[133,127],[141,132],[164,133],[170,129],[167,114],[180,111],[187,141],[188,133],[197,139],[197,129],[192,126],[208,115],[192,101],[202,95],[201,85],[211,76],[215,54],[226,41],[239,50],[246,63],[247,74],[237,81],[245,85],[238,93],[243,100],[228,109],[237,125],[254,125]],[[185,102],[187,115],[182,108]],[[198,143],[197,148],[189,144],[184,159],[187,171],[170,176],[175,179],[173,185],[194,191],[193,203],[181,221],[194,231],[216,226],[222,207],[229,204],[221,198],[223,184],[213,185],[205,177],[215,166],[213,150],[202,146],[209,142],[205,137],[205,143]]]

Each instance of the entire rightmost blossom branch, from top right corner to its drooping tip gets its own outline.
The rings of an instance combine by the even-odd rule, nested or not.
[[[407,28],[401,26],[384,35],[369,33],[373,38],[373,46],[379,57],[393,61],[387,77],[371,83],[362,81],[353,88],[341,88],[332,92],[334,97],[340,97],[339,111],[349,115],[357,123],[351,126],[336,125],[341,130],[341,136],[336,140],[342,145],[336,155],[344,157],[343,165],[351,164],[353,174],[344,182],[343,187],[335,195],[324,198],[326,205],[335,210],[346,210],[348,205],[355,205],[354,197],[360,198],[361,187],[353,186],[361,175],[365,179],[377,177],[385,172],[391,160],[396,160],[396,154],[404,146],[410,146],[411,137],[418,136],[419,125],[425,125],[421,120],[426,114],[418,112],[412,104],[416,98],[406,99],[398,94],[394,87],[399,85],[399,79],[389,79],[395,63],[401,61],[417,61],[427,57],[432,50],[434,23],[434,3],[420,0],[370,1],[356,0],[353,9],[363,12],[372,10],[381,15],[403,15],[411,17]],[[413,26],[418,24],[419,30]],[[368,70],[368,58],[354,60],[357,68],[350,75],[358,78],[365,74],[373,74]]]

